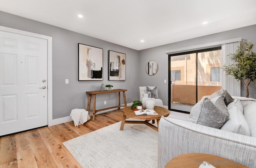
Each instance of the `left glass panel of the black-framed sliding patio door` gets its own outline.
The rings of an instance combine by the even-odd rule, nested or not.
[[[196,54],[170,57],[171,108],[190,111],[196,104]]]

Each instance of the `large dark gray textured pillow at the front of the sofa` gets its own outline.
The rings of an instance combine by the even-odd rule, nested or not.
[[[220,129],[228,117],[228,109],[222,97],[218,96],[211,100],[203,98],[196,103],[190,111],[188,121]]]

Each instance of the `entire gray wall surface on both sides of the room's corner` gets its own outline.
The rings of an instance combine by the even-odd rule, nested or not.
[[[141,51],[2,11],[0,11],[0,25],[52,37],[53,119],[70,115],[70,111],[74,108],[86,108],[88,96],[85,92],[99,90],[102,83],[113,84],[115,88],[128,89],[126,92],[128,103],[139,98],[138,86],[158,86],[159,97],[163,100],[164,105],[168,105],[168,55],[165,51],[236,37],[256,43],[256,25]],[[77,43],[103,48],[103,81],[78,82]],[[126,53],[126,81],[108,81],[108,50]],[[254,47],[255,50],[256,47]],[[146,63],[151,60],[156,61],[159,65],[158,73],[154,76],[148,76],[145,71]],[[138,75],[137,80],[134,79],[134,75]],[[70,84],[65,84],[65,79],[69,79]],[[167,83],[164,83],[164,79],[167,80]],[[243,84],[241,86],[242,96],[246,96]],[[249,85],[249,92],[249,97],[256,98],[256,83]],[[117,94],[97,96],[97,109],[116,105],[118,102],[116,96]],[[107,105],[104,105],[104,100],[107,101]],[[121,103],[123,103],[122,98]]]

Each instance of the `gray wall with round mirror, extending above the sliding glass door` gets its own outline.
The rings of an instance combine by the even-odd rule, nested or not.
[[[242,37],[242,39],[247,39],[248,41],[252,41],[254,44],[256,44],[256,25],[139,51],[140,86],[158,86],[158,96],[163,100],[164,105],[168,105],[168,55],[165,53],[165,51],[190,47],[194,45],[201,45],[205,43],[213,43],[216,41],[233,39],[237,37]],[[254,47],[254,51],[256,51],[256,46]],[[151,60],[156,61],[159,65],[158,73],[154,76],[148,76],[145,72],[146,63]],[[164,83],[164,79],[167,80],[167,83]],[[244,84],[241,84],[241,86],[241,96],[246,96]],[[249,97],[256,98],[255,82],[252,82],[249,85]]]

